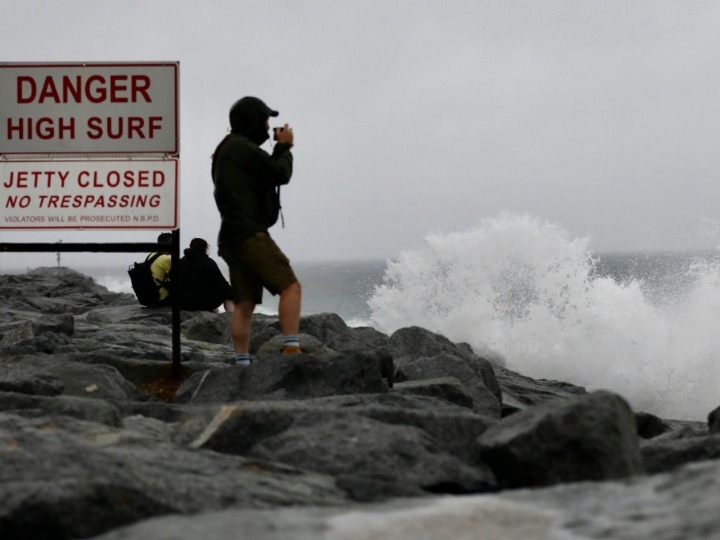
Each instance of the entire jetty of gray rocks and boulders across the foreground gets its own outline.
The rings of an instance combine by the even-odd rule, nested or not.
[[[662,419],[334,314],[291,358],[258,316],[242,367],[228,314],[183,312],[174,380],[169,309],[67,268],[0,299],[6,540],[720,537],[718,410]]]

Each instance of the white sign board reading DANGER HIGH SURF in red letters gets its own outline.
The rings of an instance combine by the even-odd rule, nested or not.
[[[0,64],[0,154],[179,153],[177,62]]]

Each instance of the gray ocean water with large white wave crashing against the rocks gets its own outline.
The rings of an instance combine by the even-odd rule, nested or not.
[[[720,252],[592,253],[589,244],[557,225],[503,215],[428,235],[389,261],[293,266],[303,314],[337,313],[388,334],[422,326],[534,378],[608,389],[664,418],[705,420],[720,405]],[[126,267],[77,269],[131,292]],[[258,312],[277,313],[276,297],[266,293]]]

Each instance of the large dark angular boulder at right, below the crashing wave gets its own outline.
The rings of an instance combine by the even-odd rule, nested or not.
[[[547,486],[642,473],[635,417],[616,394],[595,391],[503,419],[478,438],[501,486]]]

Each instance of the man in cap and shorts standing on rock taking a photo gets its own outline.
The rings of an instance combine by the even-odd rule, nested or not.
[[[269,119],[278,115],[262,100],[244,97],[230,108],[230,133],[213,154],[215,203],[220,211],[218,252],[230,269],[235,308],[230,323],[235,363],[250,363],[250,331],[263,288],[280,295],[278,314],[283,354],[299,354],[300,282],[290,261],[268,229],[280,214],[280,186],[292,176],[293,130],[275,129],[272,154],[260,148],[268,140]]]

